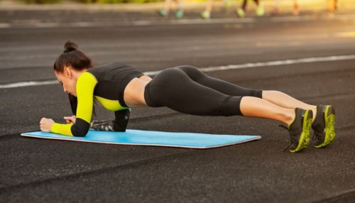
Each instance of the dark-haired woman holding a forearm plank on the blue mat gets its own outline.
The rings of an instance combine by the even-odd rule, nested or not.
[[[312,106],[277,91],[246,89],[204,75],[195,67],[168,68],[151,79],[129,65],[111,63],[92,67],[92,62],[72,41],[54,64],[55,76],[70,95],[76,116],[67,124],[41,119],[40,129],[65,136],[85,136],[90,128],[94,100],[114,111],[114,131],[125,131],[129,108],[167,106],[175,111],[200,116],[251,116],[281,121],[290,131],[290,152],[310,144],[315,131],[315,148],[329,146],[335,137],[332,106]]]

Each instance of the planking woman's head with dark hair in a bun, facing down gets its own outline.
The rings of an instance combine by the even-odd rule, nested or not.
[[[64,92],[76,96],[78,73],[92,67],[92,61],[79,50],[77,44],[71,40],[64,45],[64,52],[55,60],[53,69]]]

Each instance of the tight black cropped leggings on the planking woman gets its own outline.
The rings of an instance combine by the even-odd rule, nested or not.
[[[240,102],[244,96],[261,98],[262,91],[209,77],[196,67],[186,65],[163,70],[144,91],[148,106],[167,106],[198,116],[242,115]]]

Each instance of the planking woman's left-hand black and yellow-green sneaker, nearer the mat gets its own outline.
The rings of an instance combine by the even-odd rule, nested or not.
[[[310,128],[313,117],[311,110],[296,108],[295,114],[295,120],[292,124],[287,127],[282,126],[290,131],[291,144],[288,149],[292,153],[298,152],[310,145]]]

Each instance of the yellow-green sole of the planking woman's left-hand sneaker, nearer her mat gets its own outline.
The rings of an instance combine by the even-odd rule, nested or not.
[[[290,150],[290,152],[299,152],[300,150],[303,150],[310,145],[310,128],[312,126],[312,117],[312,111],[305,111],[305,114],[302,118],[302,133],[300,136],[300,141],[298,142],[297,148],[295,148],[294,150]]]

